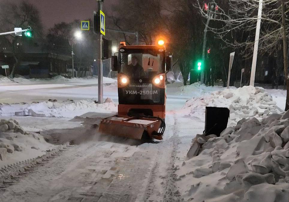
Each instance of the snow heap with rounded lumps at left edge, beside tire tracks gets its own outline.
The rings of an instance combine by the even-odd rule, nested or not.
[[[41,156],[52,147],[42,135],[24,131],[16,120],[0,120],[0,168]]]

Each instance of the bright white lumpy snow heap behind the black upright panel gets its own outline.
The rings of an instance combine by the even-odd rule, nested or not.
[[[244,86],[243,88],[223,89],[211,94],[193,97],[186,101],[184,109],[190,110],[191,117],[203,117],[205,107],[227,107],[230,109],[228,125],[234,126],[242,118],[264,118],[270,114],[284,112],[280,109],[272,96],[265,92],[264,88]]]

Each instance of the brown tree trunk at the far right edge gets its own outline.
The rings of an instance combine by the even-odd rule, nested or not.
[[[286,30],[285,30],[285,2],[282,0],[282,33],[283,33],[283,57],[284,57],[284,74],[286,79],[286,103],[285,111],[289,110],[289,75],[288,75],[288,58],[287,58],[287,41],[286,41]]]

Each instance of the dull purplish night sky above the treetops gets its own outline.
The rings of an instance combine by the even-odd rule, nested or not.
[[[2,0],[0,0],[2,1]],[[9,0],[21,2],[22,0]],[[97,9],[96,0],[27,0],[40,11],[44,29],[47,30],[55,23],[72,22],[74,19],[85,20],[93,18],[93,11]],[[111,13],[111,5],[116,0],[105,0],[103,10]]]

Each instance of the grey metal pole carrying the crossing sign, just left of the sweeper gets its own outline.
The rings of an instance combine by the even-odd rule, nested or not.
[[[102,10],[104,0],[98,0],[98,13]],[[102,34],[100,30],[97,33],[98,51],[97,51],[97,74],[98,74],[98,103],[103,103],[103,63],[102,63]]]

